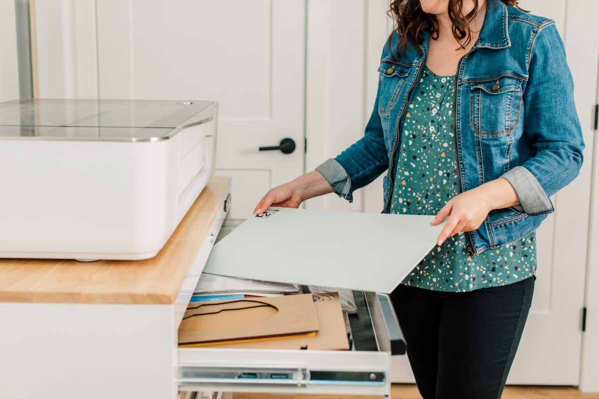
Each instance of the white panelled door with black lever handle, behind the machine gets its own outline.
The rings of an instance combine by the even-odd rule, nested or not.
[[[302,0],[38,0],[38,97],[216,100],[229,217],[304,171]],[[295,142],[291,154],[258,151]]]

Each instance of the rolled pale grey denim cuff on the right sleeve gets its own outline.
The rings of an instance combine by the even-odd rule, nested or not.
[[[516,166],[503,173],[501,177],[510,182],[518,194],[522,210],[527,214],[545,214],[553,211],[547,193],[533,173],[524,166]],[[515,208],[519,209],[519,207]]]

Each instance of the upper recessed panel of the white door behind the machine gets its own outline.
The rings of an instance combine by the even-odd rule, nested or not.
[[[270,3],[99,1],[101,98],[214,99],[222,120],[270,120]]]

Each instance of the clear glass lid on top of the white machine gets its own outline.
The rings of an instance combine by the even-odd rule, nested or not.
[[[0,103],[0,138],[164,138],[202,123],[210,101],[27,99]]]

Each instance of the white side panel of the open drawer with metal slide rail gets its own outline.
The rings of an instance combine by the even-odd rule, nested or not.
[[[181,391],[389,395],[389,352],[179,348]]]

